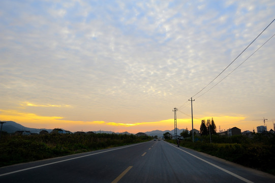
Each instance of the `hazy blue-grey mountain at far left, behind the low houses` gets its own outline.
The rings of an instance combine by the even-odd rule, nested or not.
[[[4,121],[6,122],[2,126],[2,131],[8,132],[8,133],[14,133],[16,131],[30,131],[30,133],[37,133],[42,130],[47,130],[48,132],[51,132],[52,130],[50,129],[36,129],[36,128],[27,128],[24,127],[18,123],[15,123],[14,121]]]

